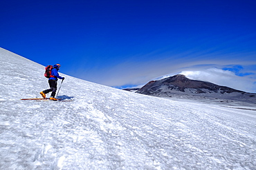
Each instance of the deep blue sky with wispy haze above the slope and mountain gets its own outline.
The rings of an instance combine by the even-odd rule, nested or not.
[[[112,87],[211,70],[256,92],[255,9],[254,0],[1,1],[0,47]]]

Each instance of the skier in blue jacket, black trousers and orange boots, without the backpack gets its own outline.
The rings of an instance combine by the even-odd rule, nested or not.
[[[60,64],[53,65],[53,69],[51,70],[51,76],[48,80],[50,89],[46,89],[43,92],[40,92],[43,98],[46,98],[46,94],[48,94],[49,92],[52,92],[50,100],[57,100],[57,98],[55,98],[55,94],[57,90],[57,79],[60,78],[64,80],[64,77],[59,75],[58,73],[59,70],[60,70]]]

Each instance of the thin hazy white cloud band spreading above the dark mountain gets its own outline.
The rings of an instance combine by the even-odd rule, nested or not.
[[[210,64],[205,65],[203,63]],[[104,72],[102,70],[95,71],[91,78],[88,76],[87,78],[89,81],[112,87],[120,87],[124,85],[126,87],[129,85],[134,87],[136,85],[145,85],[149,81],[159,80],[166,76],[185,74],[191,79],[209,81],[217,85],[223,85],[245,92],[256,92],[256,84],[254,83],[256,81],[255,77],[236,76],[234,72],[221,70],[221,68],[226,67],[226,64],[228,64],[228,62],[221,64],[221,61],[195,61],[193,63],[181,63],[175,61],[122,63],[108,70],[104,70]],[[255,72],[255,70],[248,71]]]

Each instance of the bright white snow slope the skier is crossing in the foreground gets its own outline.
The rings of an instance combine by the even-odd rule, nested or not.
[[[167,100],[65,76],[0,48],[0,169],[255,169],[255,107]],[[54,63],[49,63],[54,64]],[[61,70],[60,70],[61,72]]]

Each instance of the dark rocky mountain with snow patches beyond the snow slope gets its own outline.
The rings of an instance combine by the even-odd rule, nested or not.
[[[255,94],[232,89],[206,81],[195,81],[187,78],[183,74],[177,74],[163,78],[160,81],[150,81],[145,86],[138,89],[137,93],[151,96],[172,97],[179,96],[207,96],[214,98],[250,98]]]

